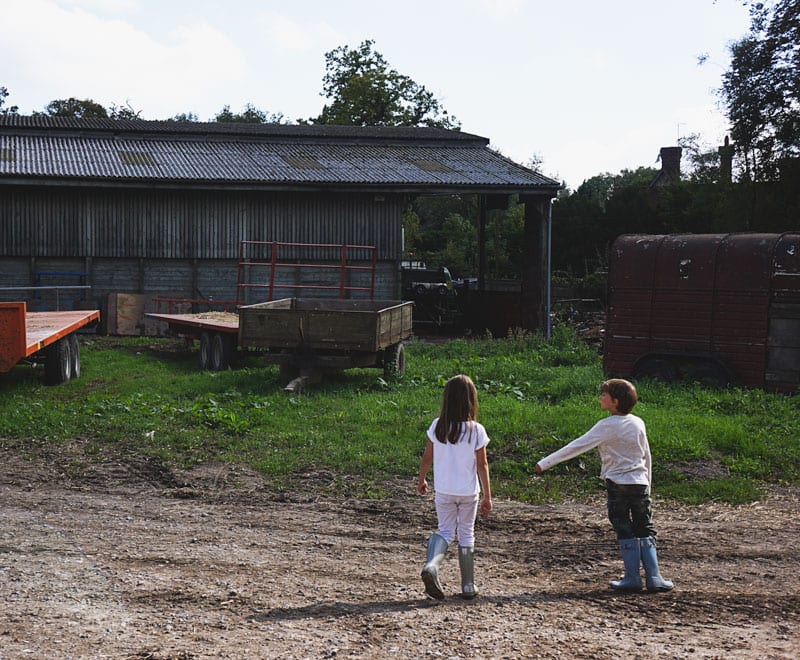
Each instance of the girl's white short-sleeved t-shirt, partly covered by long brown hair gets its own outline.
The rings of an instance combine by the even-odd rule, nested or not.
[[[486,429],[478,422],[463,422],[458,442],[439,442],[436,422],[428,428],[433,443],[433,486],[445,495],[476,495],[480,492],[475,452],[489,444]]]

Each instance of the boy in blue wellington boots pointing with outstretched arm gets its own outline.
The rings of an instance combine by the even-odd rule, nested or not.
[[[610,413],[587,433],[540,460],[536,474],[597,447],[608,492],[608,519],[617,533],[625,577],[611,588],[641,591],[639,562],[644,565],[648,591],[669,591],[672,582],[661,577],[652,522],[650,483],[652,464],[644,422],[631,414],[638,400],[632,383],[620,378],[600,386],[600,408]]]

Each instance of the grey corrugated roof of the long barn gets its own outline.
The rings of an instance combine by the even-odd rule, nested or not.
[[[521,193],[558,187],[488,142],[438,128],[3,116],[0,184],[66,179]]]

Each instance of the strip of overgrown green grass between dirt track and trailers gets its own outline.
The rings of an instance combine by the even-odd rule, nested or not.
[[[341,372],[302,395],[283,390],[276,367],[243,356],[237,369],[200,372],[196,353],[164,339],[85,337],[83,373],[58,387],[18,366],[0,379],[0,445],[57,447],[81,438],[87,452],[116,448],[160,462],[247,464],[276,489],[325,473],[340,492],[379,497],[382,484],[412,488],[425,430],[444,382],[470,375],[499,497],[530,502],[597,495],[596,452],[534,476],[546,453],[587,430],[602,413],[600,359],[557,327],[546,342],[413,341],[407,372],[386,382],[375,370]],[[687,502],[757,499],[767,484],[800,478],[797,398],[760,390],[639,383],[654,491]]]

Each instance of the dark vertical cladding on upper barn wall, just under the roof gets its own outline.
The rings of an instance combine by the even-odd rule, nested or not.
[[[402,198],[373,194],[17,189],[0,199],[4,256],[236,259],[239,241],[402,251]],[[310,259],[326,255],[308,255]]]

